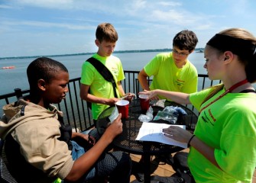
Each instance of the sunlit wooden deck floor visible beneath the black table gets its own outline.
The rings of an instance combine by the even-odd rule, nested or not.
[[[184,151],[188,152],[188,149],[184,149]],[[131,156],[131,159],[135,162],[139,162],[141,159],[140,155],[131,154],[130,156]],[[152,156],[152,159],[154,159],[154,156]],[[170,175],[173,175],[173,173],[175,173],[175,171],[173,170],[172,166],[165,164],[165,165],[158,165],[157,169],[151,175],[160,175],[160,176],[169,177]],[[134,175],[131,175],[130,182],[134,180],[136,180],[136,178],[134,177]],[[256,183],[256,169],[254,171],[254,177],[253,177],[252,183]]]

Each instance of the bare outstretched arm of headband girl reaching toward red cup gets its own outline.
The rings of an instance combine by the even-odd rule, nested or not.
[[[152,91],[144,90],[143,92],[139,92],[139,94],[148,95],[149,98],[154,98],[156,95],[161,95],[166,98],[170,98],[172,101],[175,101],[179,104],[191,104],[190,95],[182,92],[170,92],[166,90],[156,89]]]

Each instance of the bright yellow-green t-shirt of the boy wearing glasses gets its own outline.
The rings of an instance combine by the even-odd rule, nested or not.
[[[184,93],[197,91],[196,67],[187,60],[183,68],[177,68],[172,53],[158,53],[151,62],[144,66],[144,71],[148,76],[154,75],[150,86],[151,90],[162,89]]]

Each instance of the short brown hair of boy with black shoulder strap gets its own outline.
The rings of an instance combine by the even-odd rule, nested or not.
[[[115,43],[118,40],[118,33],[112,24],[102,23],[99,24],[96,29],[96,39],[99,40],[99,42],[105,40],[111,43]]]

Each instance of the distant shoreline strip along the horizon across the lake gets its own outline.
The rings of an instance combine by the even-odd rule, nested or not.
[[[144,52],[168,52],[172,49],[165,48],[165,49],[154,49],[154,50],[120,50],[115,51],[114,53],[144,53]],[[196,48],[196,53],[201,53],[203,48]],[[78,55],[92,55],[94,53],[72,53],[72,54],[62,54],[62,55],[47,55],[47,57],[51,56],[78,56]],[[0,57],[0,59],[29,59],[29,58],[37,58],[42,56],[9,56],[9,57]]]

